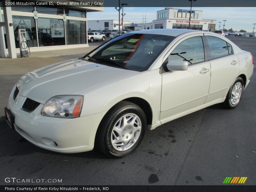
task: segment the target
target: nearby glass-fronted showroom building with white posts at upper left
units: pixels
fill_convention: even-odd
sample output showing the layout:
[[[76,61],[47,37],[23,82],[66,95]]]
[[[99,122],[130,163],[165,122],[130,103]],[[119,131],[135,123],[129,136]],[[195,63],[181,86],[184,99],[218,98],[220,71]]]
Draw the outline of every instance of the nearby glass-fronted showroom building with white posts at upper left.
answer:
[[[87,12],[104,11],[100,6],[3,7],[5,2],[10,0],[0,0],[0,57],[9,53],[10,58],[16,58],[20,52],[19,29],[26,30],[30,52],[88,46]]]

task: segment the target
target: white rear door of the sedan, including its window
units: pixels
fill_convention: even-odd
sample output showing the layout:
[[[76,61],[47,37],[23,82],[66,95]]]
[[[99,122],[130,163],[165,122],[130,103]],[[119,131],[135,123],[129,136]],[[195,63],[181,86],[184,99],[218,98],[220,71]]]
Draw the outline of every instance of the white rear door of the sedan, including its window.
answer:
[[[238,57],[232,46],[216,36],[205,34],[211,64],[211,83],[205,103],[225,98],[231,84],[239,75]]]

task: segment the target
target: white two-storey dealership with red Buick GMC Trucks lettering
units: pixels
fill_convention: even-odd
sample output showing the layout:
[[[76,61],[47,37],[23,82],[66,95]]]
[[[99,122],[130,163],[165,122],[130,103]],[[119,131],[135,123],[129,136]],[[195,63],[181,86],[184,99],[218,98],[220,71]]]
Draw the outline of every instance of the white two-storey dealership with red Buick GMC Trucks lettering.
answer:
[[[155,29],[187,29],[189,26],[190,10],[173,9],[166,7],[157,11],[156,20],[153,20]],[[203,19],[203,11],[191,11],[190,29],[214,31],[217,20]]]

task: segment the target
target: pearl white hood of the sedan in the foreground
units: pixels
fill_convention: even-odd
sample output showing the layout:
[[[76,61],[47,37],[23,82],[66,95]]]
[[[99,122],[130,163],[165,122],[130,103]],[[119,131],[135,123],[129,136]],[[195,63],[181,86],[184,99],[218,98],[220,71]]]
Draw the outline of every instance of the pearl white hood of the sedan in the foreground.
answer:
[[[80,59],[36,69],[17,82],[19,95],[45,103],[56,95],[78,95],[102,84],[139,73]]]

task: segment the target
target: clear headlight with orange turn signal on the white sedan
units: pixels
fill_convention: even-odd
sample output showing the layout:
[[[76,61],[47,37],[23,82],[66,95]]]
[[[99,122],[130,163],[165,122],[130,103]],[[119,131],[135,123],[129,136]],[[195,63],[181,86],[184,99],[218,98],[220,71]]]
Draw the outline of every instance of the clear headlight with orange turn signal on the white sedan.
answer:
[[[49,99],[41,111],[43,116],[75,118],[80,115],[83,96],[58,95]]]

